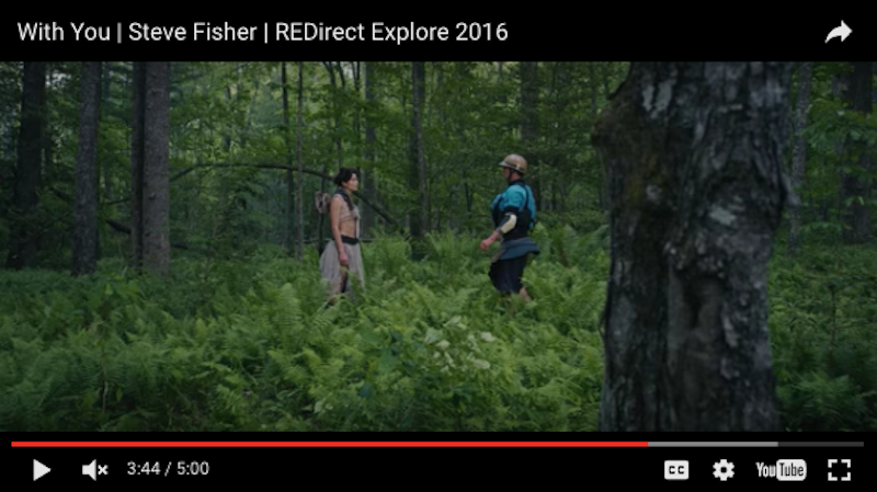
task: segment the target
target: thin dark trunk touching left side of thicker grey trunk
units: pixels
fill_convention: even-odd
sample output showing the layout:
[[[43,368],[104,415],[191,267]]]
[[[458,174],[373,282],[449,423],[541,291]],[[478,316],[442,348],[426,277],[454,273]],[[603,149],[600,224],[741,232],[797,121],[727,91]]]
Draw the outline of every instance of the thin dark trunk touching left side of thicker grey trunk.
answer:
[[[144,263],[144,115],[146,111],[146,61],[134,62],[130,117],[130,245],[136,271]]]

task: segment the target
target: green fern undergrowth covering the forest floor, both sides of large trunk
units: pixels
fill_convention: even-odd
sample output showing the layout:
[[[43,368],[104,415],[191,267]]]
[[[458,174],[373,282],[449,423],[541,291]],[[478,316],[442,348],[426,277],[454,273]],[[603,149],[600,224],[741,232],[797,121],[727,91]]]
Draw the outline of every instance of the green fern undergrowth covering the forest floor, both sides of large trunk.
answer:
[[[537,226],[534,301],[501,301],[477,237],[364,249],[367,286],[327,307],[309,251],[106,261],[0,275],[4,431],[594,431],[605,227]],[[563,260],[566,259],[566,260]],[[875,431],[877,277],[867,249],[774,261],[774,368],[789,431]]]

